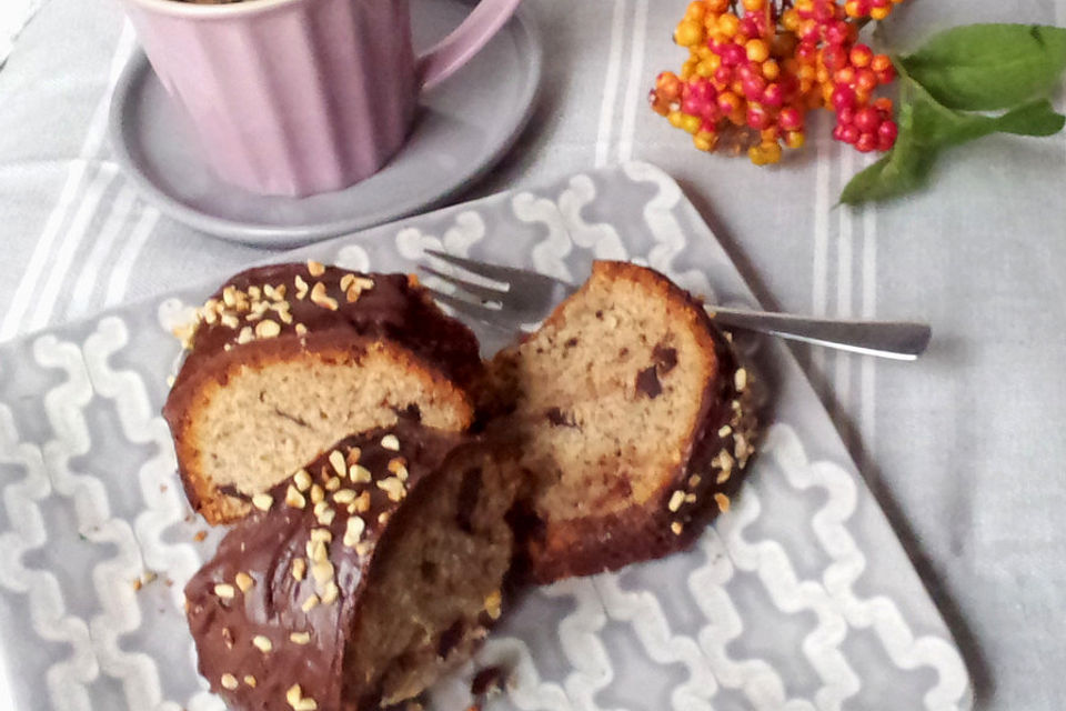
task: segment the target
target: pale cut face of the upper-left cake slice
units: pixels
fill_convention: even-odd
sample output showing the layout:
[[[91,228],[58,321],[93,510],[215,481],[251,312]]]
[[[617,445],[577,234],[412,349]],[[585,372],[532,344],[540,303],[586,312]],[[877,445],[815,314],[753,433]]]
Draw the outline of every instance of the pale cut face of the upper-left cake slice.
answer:
[[[207,494],[201,498],[265,491],[331,443],[391,425],[400,414],[442,430],[469,424],[464,395],[385,349],[358,359],[349,351],[312,351],[234,364],[223,380],[203,389],[188,432],[205,480],[198,482]],[[224,503],[247,507],[237,499]]]

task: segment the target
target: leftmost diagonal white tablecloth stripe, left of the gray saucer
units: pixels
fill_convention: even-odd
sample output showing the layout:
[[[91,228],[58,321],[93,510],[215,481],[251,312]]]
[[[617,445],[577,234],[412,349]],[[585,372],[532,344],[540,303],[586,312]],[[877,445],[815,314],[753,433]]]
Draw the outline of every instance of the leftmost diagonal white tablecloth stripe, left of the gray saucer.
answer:
[[[44,222],[44,229],[41,231],[33,253],[26,263],[26,271],[22,273],[22,279],[19,281],[19,286],[14,291],[11,306],[8,308],[7,313],[4,313],[3,321],[0,322],[0,341],[6,341],[23,330],[23,317],[37,296],[41,278],[54,260],[53,246],[56,240],[59,238],[60,231],[70,212],[78,210],[80,206],[78,196],[86,180],[89,166],[103,146],[111,89],[118,80],[119,71],[133,51],[133,31],[129,24],[125,24],[122,28],[118,47],[111,59],[111,71],[107,91],[104,91],[100,98],[92,113],[92,118],[89,121],[89,129],[86,132],[86,139],[78,152],[78,158],[71,161],[70,168],[68,169],[67,181],[63,183],[63,189],[60,192],[59,202],[56,203],[56,207]],[[59,244],[58,249],[64,249],[64,244],[66,241]],[[71,249],[76,247],[77,246],[73,246]]]

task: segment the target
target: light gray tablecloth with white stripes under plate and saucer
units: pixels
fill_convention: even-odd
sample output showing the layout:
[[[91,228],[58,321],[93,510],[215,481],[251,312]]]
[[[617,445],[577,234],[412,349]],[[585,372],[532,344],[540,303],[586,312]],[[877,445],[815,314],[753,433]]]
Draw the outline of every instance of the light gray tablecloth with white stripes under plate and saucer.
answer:
[[[978,708],[1062,709],[1066,137],[985,139],[919,196],[834,208],[865,159],[824,123],[765,170],[697,153],[646,108],[655,73],[683,59],[670,38],[684,0],[527,1],[546,30],[541,103],[464,197],[648,160],[766,307],[931,322],[914,364],[798,353],[953,628]],[[1066,2],[912,0],[892,30],[914,42],[976,21],[1066,26]],[[0,69],[0,340],[263,258],[161,217],[119,173],[104,124],[133,44],[113,3],[49,0]]]

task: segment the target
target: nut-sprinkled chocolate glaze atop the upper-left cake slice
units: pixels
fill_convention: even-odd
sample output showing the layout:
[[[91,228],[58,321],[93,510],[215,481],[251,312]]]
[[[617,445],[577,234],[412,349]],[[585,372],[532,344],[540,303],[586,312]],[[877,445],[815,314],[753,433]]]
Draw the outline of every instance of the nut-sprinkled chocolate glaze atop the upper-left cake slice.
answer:
[[[208,300],[174,389],[221,351],[271,339],[306,343],[309,336],[320,343],[388,338],[461,384],[480,368],[473,332],[441,311],[413,277],[283,263],[235,274]]]

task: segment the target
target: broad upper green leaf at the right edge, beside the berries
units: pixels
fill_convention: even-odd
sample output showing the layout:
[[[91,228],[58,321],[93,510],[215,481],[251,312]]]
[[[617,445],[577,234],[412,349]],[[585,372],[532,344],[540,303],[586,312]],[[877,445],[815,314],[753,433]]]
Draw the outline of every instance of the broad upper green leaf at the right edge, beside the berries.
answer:
[[[934,36],[897,61],[948,109],[1006,109],[1056,86],[1066,69],[1066,29],[968,24]]]

